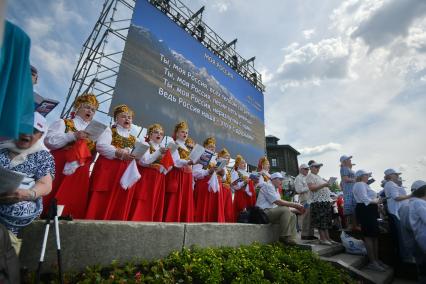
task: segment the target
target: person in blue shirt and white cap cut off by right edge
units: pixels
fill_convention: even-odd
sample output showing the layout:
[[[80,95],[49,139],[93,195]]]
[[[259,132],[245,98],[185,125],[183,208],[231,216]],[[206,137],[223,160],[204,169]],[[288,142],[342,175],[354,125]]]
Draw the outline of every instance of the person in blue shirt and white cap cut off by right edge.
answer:
[[[416,260],[419,283],[426,283],[426,181],[411,185],[411,198],[399,208],[405,247]]]

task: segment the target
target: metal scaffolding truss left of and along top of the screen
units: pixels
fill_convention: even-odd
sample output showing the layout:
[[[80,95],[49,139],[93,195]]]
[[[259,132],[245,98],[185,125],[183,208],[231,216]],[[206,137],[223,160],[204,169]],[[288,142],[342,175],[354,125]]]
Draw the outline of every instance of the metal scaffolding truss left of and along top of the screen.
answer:
[[[261,74],[254,68],[254,57],[242,58],[235,51],[236,39],[227,43],[207,26],[202,21],[204,7],[194,13],[179,0],[149,2],[257,89],[264,91]],[[98,20],[83,44],[61,117],[69,116],[75,98],[84,92],[94,92],[100,102],[98,111],[108,113],[135,3],[136,0],[105,0]]]

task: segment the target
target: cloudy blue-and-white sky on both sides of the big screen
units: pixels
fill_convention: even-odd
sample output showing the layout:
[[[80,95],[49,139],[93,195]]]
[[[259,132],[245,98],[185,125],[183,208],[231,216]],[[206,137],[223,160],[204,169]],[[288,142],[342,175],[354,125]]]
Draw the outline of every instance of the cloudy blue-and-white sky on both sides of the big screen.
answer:
[[[37,89],[63,100],[103,1],[9,0],[7,18],[32,38]],[[237,51],[256,56],[266,85],[266,134],[325,164],[426,179],[426,1],[184,0]],[[263,5],[259,5],[262,3]],[[378,183],[375,184],[378,187]]]

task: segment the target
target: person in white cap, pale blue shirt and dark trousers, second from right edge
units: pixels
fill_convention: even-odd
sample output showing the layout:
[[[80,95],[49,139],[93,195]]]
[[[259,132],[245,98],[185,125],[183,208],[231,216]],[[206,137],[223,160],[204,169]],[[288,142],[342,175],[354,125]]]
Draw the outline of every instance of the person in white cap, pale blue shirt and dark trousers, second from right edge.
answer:
[[[398,185],[400,183],[400,172],[394,169],[387,169],[384,172],[385,180],[387,181],[384,187],[386,199],[387,199],[387,210],[389,216],[389,227],[392,238],[395,242],[396,255],[399,256],[398,261],[408,261],[410,256],[408,250],[405,248],[402,240],[402,230],[399,220],[399,208],[407,202],[407,199],[411,197],[405,191],[405,188]]]

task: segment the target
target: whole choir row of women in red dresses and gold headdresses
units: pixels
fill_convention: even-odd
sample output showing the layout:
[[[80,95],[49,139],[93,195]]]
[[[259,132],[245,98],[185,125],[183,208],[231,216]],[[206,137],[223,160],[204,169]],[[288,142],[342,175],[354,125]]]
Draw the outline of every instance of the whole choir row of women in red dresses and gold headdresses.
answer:
[[[228,165],[231,159],[225,148],[214,154],[208,166],[193,164],[189,157],[195,142],[188,137],[187,123],[175,126],[173,143],[177,147],[170,149],[162,144],[162,126],[153,124],[147,131],[149,148],[136,166],[131,154],[137,142],[130,134],[133,111],[126,105],[115,107],[115,123],[95,143],[85,129],[98,106],[95,95],[83,94],[75,100],[73,118],[60,119],[50,126],[45,144],[55,159],[57,174],[52,192],[43,200],[45,212],[50,200],[56,198],[58,204],[65,205],[63,214],[77,219],[235,222],[241,211],[255,205],[254,183],[240,155],[232,171],[217,167],[217,162],[225,160]],[[216,151],[213,137],[207,138],[203,146]],[[99,156],[90,175],[96,151]],[[164,167],[168,157],[173,164],[171,170]],[[125,187],[123,178],[129,168],[136,171],[139,180]],[[259,160],[258,171],[260,182],[269,182],[266,157]]]

